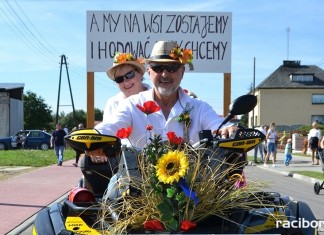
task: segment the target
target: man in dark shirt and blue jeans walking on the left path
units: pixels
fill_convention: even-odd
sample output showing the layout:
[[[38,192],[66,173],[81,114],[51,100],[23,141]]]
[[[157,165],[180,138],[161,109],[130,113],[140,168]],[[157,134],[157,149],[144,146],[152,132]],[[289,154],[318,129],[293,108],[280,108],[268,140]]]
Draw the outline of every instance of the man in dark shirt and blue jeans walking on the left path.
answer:
[[[62,166],[63,153],[64,153],[64,137],[66,133],[62,129],[61,124],[56,124],[56,129],[51,136],[51,148],[54,148],[55,155],[57,157],[57,165]]]

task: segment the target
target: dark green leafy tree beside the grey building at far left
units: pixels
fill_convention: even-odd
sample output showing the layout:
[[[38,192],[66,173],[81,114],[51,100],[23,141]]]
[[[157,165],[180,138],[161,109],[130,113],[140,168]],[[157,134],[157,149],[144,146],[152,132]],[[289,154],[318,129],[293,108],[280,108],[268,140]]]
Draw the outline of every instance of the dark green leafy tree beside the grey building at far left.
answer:
[[[27,91],[24,94],[24,128],[25,129],[47,129],[53,126],[51,107],[36,93]]]

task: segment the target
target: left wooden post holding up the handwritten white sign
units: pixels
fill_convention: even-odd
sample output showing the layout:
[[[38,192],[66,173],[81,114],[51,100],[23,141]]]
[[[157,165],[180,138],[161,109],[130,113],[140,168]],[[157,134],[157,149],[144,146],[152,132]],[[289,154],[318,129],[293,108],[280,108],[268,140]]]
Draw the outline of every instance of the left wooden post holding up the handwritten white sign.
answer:
[[[94,72],[87,72],[87,128],[93,128],[94,122]]]

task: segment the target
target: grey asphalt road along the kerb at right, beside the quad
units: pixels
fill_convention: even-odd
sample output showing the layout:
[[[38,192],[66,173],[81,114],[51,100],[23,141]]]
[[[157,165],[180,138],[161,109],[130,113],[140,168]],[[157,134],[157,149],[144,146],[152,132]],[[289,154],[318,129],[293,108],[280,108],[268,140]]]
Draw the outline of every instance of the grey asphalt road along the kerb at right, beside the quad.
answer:
[[[282,196],[289,195],[296,201],[303,201],[309,205],[317,219],[324,220],[324,190],[316,195],[313,183],[256,166],[247,166],[245,171],[248,180],[250,178],[269,182],[269,188],[266,191],[278,192]]]

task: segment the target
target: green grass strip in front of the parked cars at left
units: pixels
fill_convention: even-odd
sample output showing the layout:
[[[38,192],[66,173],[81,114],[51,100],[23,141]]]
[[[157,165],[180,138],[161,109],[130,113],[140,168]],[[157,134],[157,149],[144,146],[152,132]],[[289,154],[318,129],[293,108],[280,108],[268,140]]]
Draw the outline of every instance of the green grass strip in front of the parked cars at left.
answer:
[[[75,151],[64,150],[64,161],[74,159]],[[42,150],[6,150],[0,151],[0,166],[44,167],[56,163],[53,149]]]

